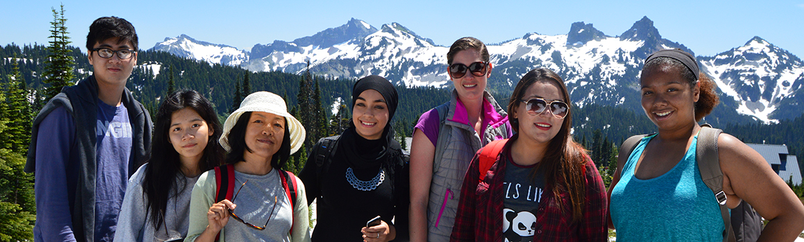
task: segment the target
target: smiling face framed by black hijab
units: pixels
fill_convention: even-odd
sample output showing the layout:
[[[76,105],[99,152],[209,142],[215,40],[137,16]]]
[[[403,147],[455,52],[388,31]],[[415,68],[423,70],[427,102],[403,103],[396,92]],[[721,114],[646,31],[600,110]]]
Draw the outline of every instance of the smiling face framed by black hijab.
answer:
[[[352,123],[355,131],[363,139],[379,139],[388,124],[388,104],[379,91],[369,89],[363,91],[355,101],[352,111]]]

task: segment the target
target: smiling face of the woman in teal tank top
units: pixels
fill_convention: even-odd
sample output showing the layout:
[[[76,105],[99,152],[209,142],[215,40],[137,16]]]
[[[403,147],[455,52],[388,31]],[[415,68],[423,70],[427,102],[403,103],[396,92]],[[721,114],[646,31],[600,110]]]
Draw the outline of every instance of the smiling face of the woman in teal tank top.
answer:
[[[642,70],[642,109],[659,130],[695,123],[698,84],[690,87],[676,67],[658,66]]]

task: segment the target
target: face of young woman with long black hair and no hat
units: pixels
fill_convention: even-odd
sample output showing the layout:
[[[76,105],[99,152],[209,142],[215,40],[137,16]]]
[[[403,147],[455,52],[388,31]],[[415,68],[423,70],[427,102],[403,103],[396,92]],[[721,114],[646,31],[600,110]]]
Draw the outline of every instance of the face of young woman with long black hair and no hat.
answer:
[[[174,111],[170,115],[169,141],[182,161],[198,163],[212,134],[212,128],[190,107]]]

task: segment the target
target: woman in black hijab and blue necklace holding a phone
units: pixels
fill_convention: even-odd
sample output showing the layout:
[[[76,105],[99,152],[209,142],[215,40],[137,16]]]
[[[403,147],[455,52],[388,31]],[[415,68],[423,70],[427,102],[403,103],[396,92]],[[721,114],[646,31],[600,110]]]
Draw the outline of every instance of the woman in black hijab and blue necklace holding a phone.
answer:
[[[387,79],[359,79],[350,127],[310,151],[299,178],[308,203],[318,199],[313,241],[408,240],[408,155],[390,124],[398,101]],[[367,227],[375,216],[379,225]]]

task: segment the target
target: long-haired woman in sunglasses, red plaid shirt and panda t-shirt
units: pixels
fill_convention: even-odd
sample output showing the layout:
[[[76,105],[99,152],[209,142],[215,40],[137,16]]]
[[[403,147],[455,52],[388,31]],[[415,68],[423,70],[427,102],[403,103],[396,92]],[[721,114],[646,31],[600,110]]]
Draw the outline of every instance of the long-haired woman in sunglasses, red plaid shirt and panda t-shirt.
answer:
[[[519,80],[508,103],[517,134],[472,159],[450,241],[607,239],[603,179],[572,140],[568,103],[564,81],[548,69]],[[496,145],[498,153],[487,151]]]

